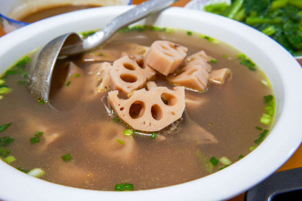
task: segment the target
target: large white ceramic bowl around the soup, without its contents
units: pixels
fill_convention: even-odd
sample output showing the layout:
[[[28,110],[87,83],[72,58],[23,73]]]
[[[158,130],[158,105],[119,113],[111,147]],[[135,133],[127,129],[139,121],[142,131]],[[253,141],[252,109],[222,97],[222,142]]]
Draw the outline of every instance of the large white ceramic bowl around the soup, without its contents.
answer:
[[[0,72],[61,34],[97,29],[131,6],[92,8],[41,20],[0,38]],[[170,187],[132,192],[95,191],[53,184],[31,177],[0,161],[0,199],[25,200],[223,200],[230,199],[277,170],[302,140],[300,115],[302,69],[268,36],[234,20],[185,8],[169,8],[138,22],[181,28],[219,39],[248,55],[271,81],[276,120],[258,148],[228,168]]]

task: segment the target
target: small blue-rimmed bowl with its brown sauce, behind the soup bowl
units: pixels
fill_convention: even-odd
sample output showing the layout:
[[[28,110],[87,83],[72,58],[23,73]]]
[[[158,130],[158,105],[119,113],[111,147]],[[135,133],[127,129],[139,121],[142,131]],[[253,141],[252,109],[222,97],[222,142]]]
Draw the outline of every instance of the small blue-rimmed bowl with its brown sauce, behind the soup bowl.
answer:
[[[130,5],[132,0],[0,0],[0,25],[9,33],[55,15],[111,5]]]

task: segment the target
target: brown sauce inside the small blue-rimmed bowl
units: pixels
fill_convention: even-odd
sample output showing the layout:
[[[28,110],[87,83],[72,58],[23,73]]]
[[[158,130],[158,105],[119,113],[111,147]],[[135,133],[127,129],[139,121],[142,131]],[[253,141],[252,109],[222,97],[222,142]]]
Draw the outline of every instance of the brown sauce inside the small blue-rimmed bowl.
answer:
[[[27,22],[27,23],[33,23],[38,20],[43,20],[47,17],[52,17],[55,15],[72,12],[72,11],[78,11],[86,8],[95,8],[99,7],[100,5],[52,5],[48,6],[47,8],[38,8],[31,12],[26,13],[24,16],[20,17],[18,20]]]

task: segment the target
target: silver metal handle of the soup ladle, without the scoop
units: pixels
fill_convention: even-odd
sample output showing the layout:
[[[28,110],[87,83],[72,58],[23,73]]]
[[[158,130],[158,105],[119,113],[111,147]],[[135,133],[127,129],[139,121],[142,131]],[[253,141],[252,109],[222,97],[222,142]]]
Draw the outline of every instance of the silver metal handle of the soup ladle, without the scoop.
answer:
[[[177,2],[178,0],[149,0],[143,2],[129,11],[119,15],[105,25],[100,31],[88,36],[83,40],[82,44],[75,44],[74,46],[66,46],[61,50],[62,54],[77,54],[85,52],[86,50],[100,46],[108,39],[110,39],[114,33],[121,28],[124,28],[134,22],[137,22],[149,15],[152,15],[169,5]]]

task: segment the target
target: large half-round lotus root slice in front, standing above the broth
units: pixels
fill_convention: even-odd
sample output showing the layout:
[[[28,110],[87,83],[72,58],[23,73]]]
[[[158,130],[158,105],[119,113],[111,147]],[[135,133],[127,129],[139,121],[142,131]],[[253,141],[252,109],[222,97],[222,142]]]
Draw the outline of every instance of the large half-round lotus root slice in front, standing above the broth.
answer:
[[[136,130],[158,131],[181,118],[185,109],[185,88],[151,87],[137,90],[129,99],[119,99],[118,91],[108,93],[114,111]]]

